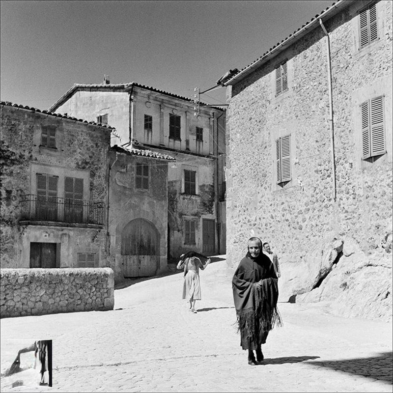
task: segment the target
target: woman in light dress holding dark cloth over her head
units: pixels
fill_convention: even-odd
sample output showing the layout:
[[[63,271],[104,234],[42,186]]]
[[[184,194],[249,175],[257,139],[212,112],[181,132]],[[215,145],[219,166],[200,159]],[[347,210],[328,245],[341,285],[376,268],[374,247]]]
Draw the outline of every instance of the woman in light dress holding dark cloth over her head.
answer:
[[[184,269],[183,299],[190,302],[190,311],[197,313],[195,301],[201,299],[199,269],[203,270],[210,263],[210,258],[189,251],[180,256],[177,269]]]

